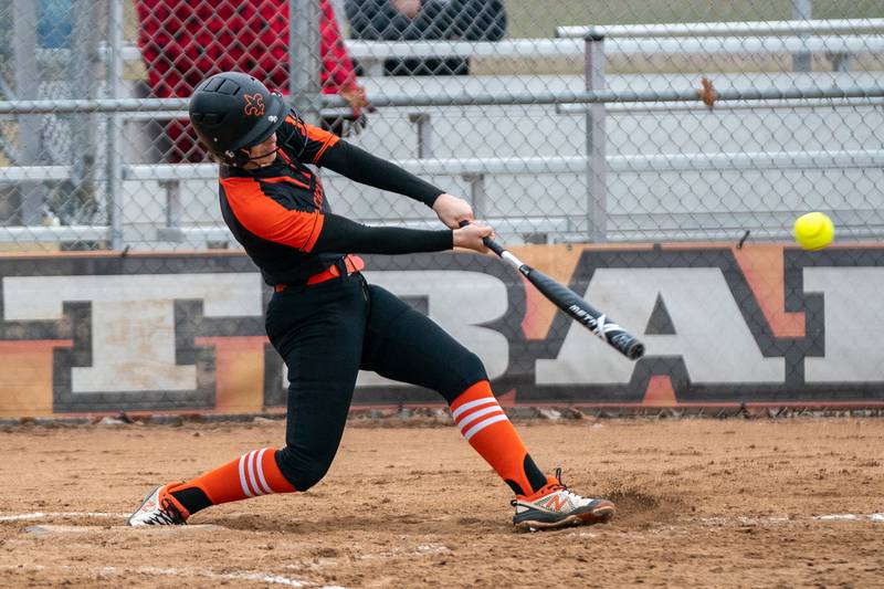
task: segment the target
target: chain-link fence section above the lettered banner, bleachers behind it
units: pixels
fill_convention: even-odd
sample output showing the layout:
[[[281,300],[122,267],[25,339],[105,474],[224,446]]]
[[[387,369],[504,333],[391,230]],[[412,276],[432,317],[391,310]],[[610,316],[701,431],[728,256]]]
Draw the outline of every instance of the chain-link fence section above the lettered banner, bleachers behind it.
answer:
[[[2,243],[235,246],[182,118],[223,70],[467,197],[511,242],[782,240],[817,209],[877,238],[884,3],[646,4],[6,0]],[[341,214],[432,222],[327,185]]]

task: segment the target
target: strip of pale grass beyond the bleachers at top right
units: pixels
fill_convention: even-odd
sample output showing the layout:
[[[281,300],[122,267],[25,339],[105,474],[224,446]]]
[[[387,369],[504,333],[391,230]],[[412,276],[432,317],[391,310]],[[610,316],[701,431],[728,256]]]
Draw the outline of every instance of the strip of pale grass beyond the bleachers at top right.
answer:
[[[881,0],[812,0],[813,19],[884,17]],[[505,0],[511,38],[552,36],[566,24],[789,20],[791,0]]]

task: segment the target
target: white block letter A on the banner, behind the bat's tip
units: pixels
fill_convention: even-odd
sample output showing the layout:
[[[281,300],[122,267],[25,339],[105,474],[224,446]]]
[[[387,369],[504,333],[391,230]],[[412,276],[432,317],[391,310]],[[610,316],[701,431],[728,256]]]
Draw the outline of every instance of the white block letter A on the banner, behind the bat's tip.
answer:
[[[657,295],[675,335],[643,335]],[[639,336],[648,356],[681,357],[693,382],[783,382],[785,360],[761,355],[719,269],[600,269],[586,299]],[[558,357],[537,360],[537,383],[625,383],[634,367],[572,323]]]

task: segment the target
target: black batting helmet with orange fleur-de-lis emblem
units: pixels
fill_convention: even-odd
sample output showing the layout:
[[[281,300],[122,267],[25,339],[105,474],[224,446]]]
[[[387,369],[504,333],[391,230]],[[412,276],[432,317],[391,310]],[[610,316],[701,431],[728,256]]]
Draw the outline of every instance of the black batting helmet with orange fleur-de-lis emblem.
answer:
[[[223,72],[200,82],[190,97],[190,123],[218,159],[242,166],[244,147],[263,143],[285,120],[285,101],[259,80]]]

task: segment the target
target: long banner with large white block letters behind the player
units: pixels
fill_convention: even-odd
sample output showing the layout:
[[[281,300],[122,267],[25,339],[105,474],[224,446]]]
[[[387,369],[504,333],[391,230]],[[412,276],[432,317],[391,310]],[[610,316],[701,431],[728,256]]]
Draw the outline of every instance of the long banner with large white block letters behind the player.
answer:
[[[366,274],[480,355],[514,403],[884,404],[884,249],[519,249],[639,335],[639,362],[490,256],[368,256]],[[286,372],[239,254],[0,257],[0,416],[254,412]],[[360,374],[355,402],[439,403]]]

